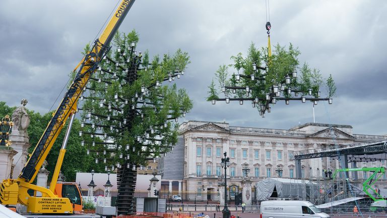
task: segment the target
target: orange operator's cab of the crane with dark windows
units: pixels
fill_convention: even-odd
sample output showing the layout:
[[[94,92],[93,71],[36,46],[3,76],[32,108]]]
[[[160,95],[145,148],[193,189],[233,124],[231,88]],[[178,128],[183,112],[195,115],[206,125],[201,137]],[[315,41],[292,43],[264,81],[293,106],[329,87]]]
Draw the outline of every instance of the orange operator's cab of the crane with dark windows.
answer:
[[[77,183],[58,182],[54,194],[58,197],[69,198],[74,212],[82,212],[82,192]]]

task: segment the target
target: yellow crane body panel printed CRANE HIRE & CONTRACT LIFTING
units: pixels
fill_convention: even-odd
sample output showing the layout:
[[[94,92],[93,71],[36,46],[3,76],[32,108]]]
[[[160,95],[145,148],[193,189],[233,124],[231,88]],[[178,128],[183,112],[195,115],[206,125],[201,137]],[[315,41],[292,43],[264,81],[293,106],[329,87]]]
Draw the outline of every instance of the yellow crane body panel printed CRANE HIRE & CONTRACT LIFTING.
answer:
[[[69,198],[29,197],[27,212],[73,213],[73,205]]]

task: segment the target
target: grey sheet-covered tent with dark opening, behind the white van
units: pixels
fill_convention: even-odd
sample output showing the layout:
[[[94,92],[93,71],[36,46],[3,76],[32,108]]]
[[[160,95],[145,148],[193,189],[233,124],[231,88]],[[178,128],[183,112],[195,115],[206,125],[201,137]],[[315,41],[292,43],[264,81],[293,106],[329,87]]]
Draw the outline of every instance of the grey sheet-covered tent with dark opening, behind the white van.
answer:
[[[283,178],[266,178],[257,182],[255,188],[258,201],[264,201],[268,198],[301,200],[303,198],[317,197],[319,190],[318,185],[309,180]]]

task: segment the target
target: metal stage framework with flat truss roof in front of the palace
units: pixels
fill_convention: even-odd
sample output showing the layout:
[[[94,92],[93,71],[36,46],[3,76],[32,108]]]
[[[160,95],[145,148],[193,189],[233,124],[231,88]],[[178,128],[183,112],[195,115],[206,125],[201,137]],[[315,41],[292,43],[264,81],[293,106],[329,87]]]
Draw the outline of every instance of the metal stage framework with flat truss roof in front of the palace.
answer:
[[[321,172],[317,169],[315,177],[312,178],[309,171],[309,177],[307,179],[302,178],[301,159],[339,156],[339,159],[344,158],[342,159],[344,161],[343,167],[348,168],[348,162],[350,161],[362,162],[358,155],[372,157],[372,155],[381,153],[387,153],[387,140],[340,145],[331,148],[313,148],[294,152],[293,157],[296,161],[296,166],[299,168],[296,169],[296,175],[302,180],[302,186],[295,185],[292,188],[301,188],[302,190],[297,190],[297,193],[300,193],[299,198],[292,200],[307,200],[315,205],[319,205],[346,198],[365,196],[362,189],[362,181],[357,178],[351,181],[348,172],[341,172],[340,177],[332,179],[321,176]],[[366,161],[372,160],[371,158],[362,158]]]

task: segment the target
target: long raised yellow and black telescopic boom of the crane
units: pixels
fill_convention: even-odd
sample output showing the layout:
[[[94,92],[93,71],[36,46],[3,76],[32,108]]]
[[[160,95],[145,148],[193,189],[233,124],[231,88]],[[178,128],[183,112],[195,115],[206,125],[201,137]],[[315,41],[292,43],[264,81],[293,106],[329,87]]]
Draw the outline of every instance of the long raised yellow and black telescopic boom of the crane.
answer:
[[[43,132],[43,135],[19,176],[25,182],[34,181],[56,137],[59,135],[64,124],[66,124],[70,115],[76,112],[78,98],[84,87],[86,87],[91,74],[97,70],[98,64],[106,55],[110,41],[134,2],[134,0],[122,0],[100,38],[94,42],[91,51],[83,58],[78,74],[64,95],[59,107],[56,109],[51,121],[48,123],[47,128]]]

